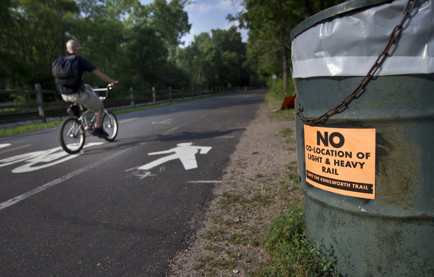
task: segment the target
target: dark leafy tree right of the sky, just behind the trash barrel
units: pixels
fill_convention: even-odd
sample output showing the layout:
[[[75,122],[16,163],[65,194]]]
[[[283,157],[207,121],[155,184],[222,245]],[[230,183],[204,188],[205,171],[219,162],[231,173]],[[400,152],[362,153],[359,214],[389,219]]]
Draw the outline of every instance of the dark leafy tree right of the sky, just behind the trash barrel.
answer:
[[[227,18],[239,21],[240,28],[249,29],[247,61],[250,67],[256,68],[264,77],[281,71],[283,90],[286,91],[291,45],[289,33],[303,19],[336,2],[342,1],[243,0],[246,10]],[[276,61],[277,58],[280,62]]]

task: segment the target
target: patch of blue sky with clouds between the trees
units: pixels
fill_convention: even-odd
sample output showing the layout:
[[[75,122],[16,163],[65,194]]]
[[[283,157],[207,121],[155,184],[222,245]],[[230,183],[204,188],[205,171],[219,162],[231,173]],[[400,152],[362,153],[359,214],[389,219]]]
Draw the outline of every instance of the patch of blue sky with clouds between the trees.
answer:
[[[153,0],[140,0],[144,5],[153,2]],[[194,35],[202,32],[211,34],[211,29],[229,29],[236,23],[229,22],[226,19],[227,14],[235,14],[243,8],[240,6],[240,0],[195,0],[195,2],[184,8],[191,24],[190,34],[184,35],[181,39],[185,42],[184,46],[188,46],[194,40]],[[247,30],[239,29],[238,32],[241,33],[243,42],[247,42]]]

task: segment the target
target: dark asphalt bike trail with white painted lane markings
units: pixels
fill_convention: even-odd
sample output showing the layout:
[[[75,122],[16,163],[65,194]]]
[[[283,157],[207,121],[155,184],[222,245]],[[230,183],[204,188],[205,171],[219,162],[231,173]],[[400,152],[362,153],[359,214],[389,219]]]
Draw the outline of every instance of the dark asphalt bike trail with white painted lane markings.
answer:
[[[58,129],[0,138],[0,276],[165,276],[264,92],[119,115],[80,155]]]

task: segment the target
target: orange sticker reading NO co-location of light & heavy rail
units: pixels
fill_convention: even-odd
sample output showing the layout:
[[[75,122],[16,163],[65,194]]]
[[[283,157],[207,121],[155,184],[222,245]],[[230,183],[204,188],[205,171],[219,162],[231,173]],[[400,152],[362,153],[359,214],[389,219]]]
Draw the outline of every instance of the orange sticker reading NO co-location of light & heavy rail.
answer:
[[[375,129],[304,126],[306,181],[322,190],[375,199]]]

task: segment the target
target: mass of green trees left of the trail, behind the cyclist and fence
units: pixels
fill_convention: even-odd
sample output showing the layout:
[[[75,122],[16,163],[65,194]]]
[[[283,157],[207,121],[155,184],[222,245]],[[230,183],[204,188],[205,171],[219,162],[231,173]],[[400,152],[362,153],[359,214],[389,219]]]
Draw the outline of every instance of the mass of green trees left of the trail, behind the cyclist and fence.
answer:
[[[186,0],[4,0],[0,11],[0,89],[55,89],[51,63],[75,39],[83,56],[138,90],[249,85],[246,45],[236,29],[212,30],[179,48],[191,24]],[[85,72],[85,82],[102,87]],[[30,99],[29,99],[30,100]],[[25,100],[24,100],[25,101]]]

